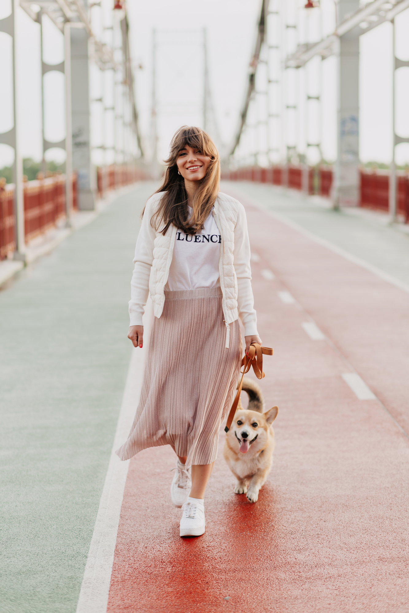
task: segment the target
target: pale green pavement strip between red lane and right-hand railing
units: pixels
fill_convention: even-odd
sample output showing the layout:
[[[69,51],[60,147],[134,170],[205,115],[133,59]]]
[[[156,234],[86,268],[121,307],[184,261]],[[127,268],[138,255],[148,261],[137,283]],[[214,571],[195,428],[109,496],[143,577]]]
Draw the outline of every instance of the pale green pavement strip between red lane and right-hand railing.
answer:
[[[239,199],[242,194],[409,285],[409,234],[389,226],[386,216],[361,209],[334,211],[321,199],[265,183],[224,181],[221,191],[234,191]]]

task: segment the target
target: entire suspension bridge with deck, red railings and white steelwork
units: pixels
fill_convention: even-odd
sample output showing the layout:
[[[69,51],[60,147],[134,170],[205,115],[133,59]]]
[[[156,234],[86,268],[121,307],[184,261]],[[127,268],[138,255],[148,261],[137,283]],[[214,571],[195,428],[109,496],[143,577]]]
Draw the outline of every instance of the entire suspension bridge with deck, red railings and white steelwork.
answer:
[[[229,139],[210,26],[183,30],[202,58],[189,112],[218,143],[221,191],[246,210],[259,333],[274,348],[262,390],[279,406],[274,464],[255,504],[233,492],[220,432],[197,539],[178,536],[170,447],[128,462],[114,452],[149,343],[134,350],[126,338],[140,212],[158,186],[164,118],[186,112],[162,83],[161,53],[179,34],[155,17],[148,116],[134,74],[145,59],[132,56],[140,9],[12,0],[0,13],[0,45],[12,41],[0,61],[13,67],[12,120],[0,135],[0,154],[13,150],[0,183],[1,611],[407,611],[409,132],[399,113],[409,2],[332,4],[259,2]],[[62,63],[39,58],[36,178],[24,177],[18,125],[22,12],[44,40],[52,27],[64,43]],[[365,164],[359,63],[377,28],[394,35],[391,159]],[[66,99],[58,141],[47,132],[51,72],[63,75]],[[97,99],[91,74],[107,84]],[[149,330],[149,305],[144,318]]]

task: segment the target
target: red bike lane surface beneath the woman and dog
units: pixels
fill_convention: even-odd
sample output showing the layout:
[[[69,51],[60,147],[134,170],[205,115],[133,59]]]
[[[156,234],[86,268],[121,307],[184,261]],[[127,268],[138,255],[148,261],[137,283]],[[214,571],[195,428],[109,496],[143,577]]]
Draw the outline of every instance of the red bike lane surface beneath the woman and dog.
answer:
[[[173,452],[134,457],[107,611],[403,613],[409,294],[244,204],[259,333],[274,348],[261,382],[280,408],[272,472],[257,503],[235,495],[221,431],[206,532],[182,539]],[[355,371],[380,400],[357,398],[342,379]]]

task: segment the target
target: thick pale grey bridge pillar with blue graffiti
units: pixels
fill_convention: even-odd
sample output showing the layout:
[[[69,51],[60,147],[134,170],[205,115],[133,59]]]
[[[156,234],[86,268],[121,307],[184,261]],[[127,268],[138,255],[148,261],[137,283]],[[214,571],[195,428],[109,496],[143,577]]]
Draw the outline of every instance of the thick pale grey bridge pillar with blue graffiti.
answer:
[[[359,9],[359,0],[338,0],[337,23]],[[337,162],[334,208],[359,204],[359,26],[340,37],[337,50]]]

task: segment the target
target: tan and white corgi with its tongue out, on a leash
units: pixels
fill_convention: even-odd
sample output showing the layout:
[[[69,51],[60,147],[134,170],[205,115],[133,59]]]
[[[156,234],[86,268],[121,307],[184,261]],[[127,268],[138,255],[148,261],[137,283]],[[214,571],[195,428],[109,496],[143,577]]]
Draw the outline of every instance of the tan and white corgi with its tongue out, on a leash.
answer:
[[[263,412],[264,398],[252,379],[244,378],[242,389],[248,394],[248,406],[244,409],[239,400],[226,435],[223,456],[237,479],[234,492],[246,494],[250,502],[256,502],[273,465],[275,441],[272,423],[277,417],[278,406]]]

